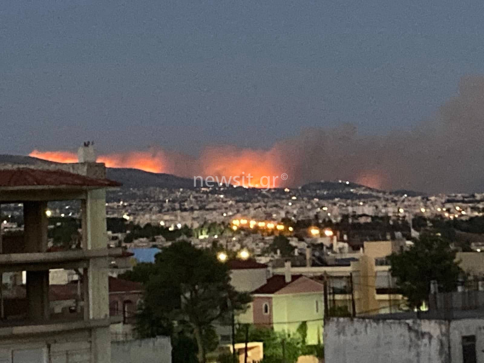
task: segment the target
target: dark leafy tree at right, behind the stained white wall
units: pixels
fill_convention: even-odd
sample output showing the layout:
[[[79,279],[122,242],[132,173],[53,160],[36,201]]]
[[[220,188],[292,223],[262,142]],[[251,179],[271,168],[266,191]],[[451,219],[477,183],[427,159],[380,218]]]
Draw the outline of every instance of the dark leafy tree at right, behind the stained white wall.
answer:
[[[428,301],[432,280],[437,280],[439,291],[454,291],[462,272],[455,254],[440,236],[424,233],[407,251],[389,257],[392,276],[410,308],[419,309]]]

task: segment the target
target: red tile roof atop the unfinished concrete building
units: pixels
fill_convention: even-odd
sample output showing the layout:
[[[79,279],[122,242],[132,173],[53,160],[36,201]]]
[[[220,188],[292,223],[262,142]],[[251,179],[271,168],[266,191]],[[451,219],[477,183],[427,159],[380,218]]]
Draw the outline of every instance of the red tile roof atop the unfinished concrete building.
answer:
[[[121,186],[117,181],[94,179],[64,170],[45,170],[21,167],[0,169],[0,187],[26,186]]]

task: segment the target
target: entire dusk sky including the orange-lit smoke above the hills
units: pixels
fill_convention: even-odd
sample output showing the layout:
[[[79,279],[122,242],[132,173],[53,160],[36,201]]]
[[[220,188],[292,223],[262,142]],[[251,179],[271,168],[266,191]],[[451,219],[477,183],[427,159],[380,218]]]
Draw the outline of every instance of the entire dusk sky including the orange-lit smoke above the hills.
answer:
[[[1,4],[0,152],[481,191],[482,5],[382,5]]]

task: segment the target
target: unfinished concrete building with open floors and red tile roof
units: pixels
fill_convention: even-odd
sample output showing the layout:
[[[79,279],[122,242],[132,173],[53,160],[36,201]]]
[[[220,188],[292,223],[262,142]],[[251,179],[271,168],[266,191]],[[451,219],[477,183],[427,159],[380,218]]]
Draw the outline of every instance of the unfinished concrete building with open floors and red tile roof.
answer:
[[[23,230],[2,239],[0,233],[0,362],[111,362],[104,164],[95,162],[92,146],[79,149],[79,163],[1,165],[1,204],[23,208]],[[82,232],[76,246],[48,246],[47,202],[76,200]],[[54,252],[51,252],[54,251]],[[79,272],[82,301],[70,314],[49,305],[49,270]],[[24,274],[25,299],[8,291],[6,276]],[[15,285],[15,284],[14,284]],[[15,287],[15,286],[13,286]],[[12,296],[9,296],[12,295]],[[12,297],[9,299],[9,297]]]

